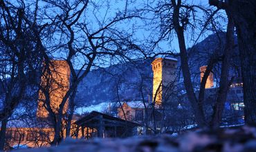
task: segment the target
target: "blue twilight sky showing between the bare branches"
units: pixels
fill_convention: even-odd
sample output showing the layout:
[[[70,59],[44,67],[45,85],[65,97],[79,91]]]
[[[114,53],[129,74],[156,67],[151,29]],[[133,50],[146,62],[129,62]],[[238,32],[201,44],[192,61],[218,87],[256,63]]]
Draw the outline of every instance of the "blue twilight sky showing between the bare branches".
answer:
[[[15,0],[12,0],[12,1],[15,1]],[[35,8],[35,0],[26,0],[25,2],[30,8],[32,9]],[[157,1],[128,0],[128,3],[129,4],[127,5],[127,8],[128,8],[127,12],[129,12],[129,10],[136,10],[136,9],[139,10],[141,8],[145,8],[147,4],[150,4],[150,6],[154,7],[156,6]],[[206,8],[210,8],[210,6],[208,5],[208,0],[186,0],[186,1],[183,0],[183,3],[190,4],[190,5],[200,5]],[[57,15],[62,14],[61,10],[58,10],[57,8],[51,8],[50,6],[46,5],[46,3],[42,0],[39,0],[39,7],[44,8],[42,10],[39,10],[39,13],[38,13],[39,16],[40,14],[45,13],[43,12],[43,10],[46,10],[46,14],[48,14],[48,17],[56,17]],[[80,5],[78,8],[80,7],[82,7],[82,5]],[[82,14],[82,17],[78,22],[86,23],[86,25],[88,25],[89,27],[89,31],[93,33],[96,30],[98,30],[101,25],[107,25],[107,23],[109,23],[109,19],[111,20],[111,18],[115,17],[118,11],[123,12],[125,10],[125,7],[126,7],[125,0],[106,0],[106,1],[90,0],[88,7],[84,11],[84,13]],[[213,8],[213,10],[216,10],[216,8]],[[73,12],[69,12],[69,13],[72,14]],[[225,13],[220,12],[220,14],[223,16],[223,18],[219,17],[216,21],[214,21],[214,24],[217,25],[217,30],[226,30]],[[128,21],[122,21],[121,23],[114,25],[113,28],[121,29],[127,33],[133,32],[134,34],[132,36],[132,39],[136,40],[136,43],[138,43],[138,45],[145,47],[146,50],[147,49],[149,50],[152,47],[149,45],[148,41],[156,41],[156,39],[158,38],[158,34],[160,33],[159,28],[157,27],[159,20],[152,19],[152,17],[154,17],[154,14],[152,13],[147,13],[143,15],[144,15],[143,17],[145,17],[146,19],[142,20],[142,19],[136,18]],[[196,10],[196,19],[206,21],[206,18],[207,17],[202,11]],[[51,22],[51,21],[42,20],[42,23],[44,22]],[[203,22],[201,24],[198,23],[195,25],[194,30],[188,29],[185,32],[185,40],[186,40],[187,48],[192,47],[192,45],[202,41],[209,34],[213,33],[209,31],[203,32],[203,34],[198,39],[199,33],[201,32],[201,27],[203,26],[202,24]],[[209,26],[208,28],[211,28],[211,26]],[[83,36],[82,34],[76,34],[75,36],[75,39],[77,40],[76,45],[83,45],[82,43],[84,43],[84,41],[82,41],[81,39],[82,36]],[[196,39],[198,39],[198,41],[196,41]],[[81,41],[79,42],[79,40]],[[45,41],[44,45],[48,46],[49,50],[51,49],[53,50],[52,48],[53,45],[55,45],[56,43],[66,43],[66,41],[67,39],[65,39],[65,36],[55,32],[55,34],[53,34],[51,41]],[[174,32],[172,32],[172,36],[170,37],[170,39],[159,42],[158,47],[155,47],[155,49],[152,50],[152,52],[167,52],[167,51],[179,52],[179,44],[176,38],[176,34]],[[66,54],[67,52],[61,49],[57,52],[54,52],[52,56],[53,58],[62,58],[62,56],[66,56]],[[84,58],[82,57],[80,58],[79,56],[77,56],[77,58],[78,60],[74,60],[74,62],[77,61],[77,66],[82,65],[81,62],[84,60]],[[102,65],[106,64],[107,62],[111,64],[110,60],[111,59],[109,58],[106,58],[106,59],[101,58],[101,60],[99,60],[99,63],[101,61]]]

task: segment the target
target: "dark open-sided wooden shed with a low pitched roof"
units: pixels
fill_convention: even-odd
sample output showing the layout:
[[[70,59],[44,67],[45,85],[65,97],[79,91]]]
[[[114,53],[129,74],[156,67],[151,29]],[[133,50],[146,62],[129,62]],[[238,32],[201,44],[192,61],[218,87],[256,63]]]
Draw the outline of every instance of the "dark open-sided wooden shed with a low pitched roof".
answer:
[[[140,124],[92,111],[74,123],[77,127],[76,136],[82,130],[82,138],[124,138],[136,134]],[[85,131],[85,132],[84,132]]]

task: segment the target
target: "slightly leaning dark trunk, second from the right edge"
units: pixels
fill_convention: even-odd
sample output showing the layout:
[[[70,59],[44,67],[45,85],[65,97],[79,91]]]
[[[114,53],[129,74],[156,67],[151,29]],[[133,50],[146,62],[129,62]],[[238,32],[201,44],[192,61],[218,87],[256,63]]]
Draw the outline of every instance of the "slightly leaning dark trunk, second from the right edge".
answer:
[[[223,53],[223,61],[221,65],[221,80],[219,85],[219,91],[217,96],[217,101],[214,105],[214,111],[212,115],[211,127],[218,128],[221,123],[222,113],[224,109],[224,104],[227,99],[228,88],[230,86],[228,80],[228,69],[230,67],[230,57],[232,55],[232,50],[234,47],[234,22],[229,17],[228,18],[228,30],[226,33],[226,48]]]

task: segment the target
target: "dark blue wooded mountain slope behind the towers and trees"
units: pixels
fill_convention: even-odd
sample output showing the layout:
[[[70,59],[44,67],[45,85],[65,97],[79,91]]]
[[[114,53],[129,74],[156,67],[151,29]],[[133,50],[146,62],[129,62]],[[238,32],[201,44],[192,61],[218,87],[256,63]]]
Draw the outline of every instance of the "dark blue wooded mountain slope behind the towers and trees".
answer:
[[[214,52],[221,56],[225,43],[226,33],[218,32],[188,49],[190,72],[195,85],[200,83],[199,67],[207,65],[208,59]],[[237,56],[237,48],[234,52],[233,55]],[[180,60],[177,59],[178,65],[180,65]],[[233,61],[232,65],[239,63],[238,58]],[[118,98],[119,100],[139,100],[142,98],[140,94],[142,79],[143,96],[145,100],[149,100],[152,96],[150,94],[152,94],[153,79],[151,62],[152,60],[135,61],[89,72],[88,76],[78,85],[76,102],[82,105],[97,105],[100,102],[116,101]],[[213,69],[214,77],[219,76],[219,68],[220,64]],[[233,71],[232,74],[235,72]],[[183,80],[182,74],[180,80]],[[183,85],[183,83],[179,84]]]

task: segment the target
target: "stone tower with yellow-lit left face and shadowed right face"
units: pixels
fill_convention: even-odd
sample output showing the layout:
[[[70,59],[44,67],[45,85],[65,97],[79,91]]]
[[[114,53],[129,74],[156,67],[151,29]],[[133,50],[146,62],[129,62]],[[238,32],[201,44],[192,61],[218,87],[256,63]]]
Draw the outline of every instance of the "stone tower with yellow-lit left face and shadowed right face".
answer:
[[[164,102],[165,95],[168,94],[168,89],[170,90],[170,86],[174,85],[176,67],[176,58],[156,58],[152,62],[154,72],[152,100],[154,102],[154,99],[156,99],[156,105],[161,105]]]

